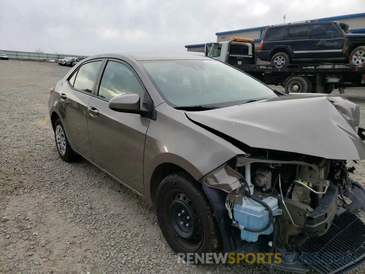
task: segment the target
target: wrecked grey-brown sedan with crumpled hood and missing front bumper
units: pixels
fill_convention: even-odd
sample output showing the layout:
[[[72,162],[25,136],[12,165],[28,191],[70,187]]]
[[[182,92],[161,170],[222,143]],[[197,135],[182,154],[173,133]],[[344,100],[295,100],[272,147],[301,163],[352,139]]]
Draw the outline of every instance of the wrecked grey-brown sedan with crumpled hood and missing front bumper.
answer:
[[[103,54],[57,82],[49,112],[60,157],[141,195],[177,253],[351,253],[309,260],[320,273],[364,260],[365,190],[348,162],[365,159],[365,137],[346,99],[286,95],[203,56]]]

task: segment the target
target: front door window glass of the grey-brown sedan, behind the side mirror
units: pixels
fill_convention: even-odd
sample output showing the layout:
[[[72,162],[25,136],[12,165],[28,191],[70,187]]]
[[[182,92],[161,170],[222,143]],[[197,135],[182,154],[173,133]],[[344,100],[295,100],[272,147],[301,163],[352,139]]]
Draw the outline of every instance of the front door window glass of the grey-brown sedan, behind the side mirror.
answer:
[[[109,101],[115,96],[124,94],[138,94],[142,103],[145,90],[126,65],[108,61],[101,78],[98,96]]]

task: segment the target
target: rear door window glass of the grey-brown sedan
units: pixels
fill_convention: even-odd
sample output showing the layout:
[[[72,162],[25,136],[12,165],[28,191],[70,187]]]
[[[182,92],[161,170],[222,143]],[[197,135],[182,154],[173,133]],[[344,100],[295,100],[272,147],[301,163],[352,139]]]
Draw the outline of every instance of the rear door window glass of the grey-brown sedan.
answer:
[[[81,65],[78,69],[73,87],[80,91],[92,93],[101,62],[100,60]]]

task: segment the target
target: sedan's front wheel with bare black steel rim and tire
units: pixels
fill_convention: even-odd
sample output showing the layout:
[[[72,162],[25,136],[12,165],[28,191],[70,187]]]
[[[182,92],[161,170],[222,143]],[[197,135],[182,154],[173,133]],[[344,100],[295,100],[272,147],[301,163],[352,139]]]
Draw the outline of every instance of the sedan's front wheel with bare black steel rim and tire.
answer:
[[[220,251],[220,232],[211,204],[197,182],[184,172],[162,180],[155,208],[162,235],[174,252]]]

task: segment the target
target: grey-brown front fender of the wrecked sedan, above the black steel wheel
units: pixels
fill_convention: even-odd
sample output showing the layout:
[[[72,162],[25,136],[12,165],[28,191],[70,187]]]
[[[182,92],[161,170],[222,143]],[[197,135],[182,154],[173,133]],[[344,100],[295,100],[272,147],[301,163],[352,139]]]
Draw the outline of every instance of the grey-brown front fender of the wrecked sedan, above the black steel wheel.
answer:
[[[151,178],[161,164],[171,163],[199,181],[228,160],[244,152],[190,121],[184,111],[162,103],[156,107],[146,134],[143,162],[144,198],[152,204]]]

